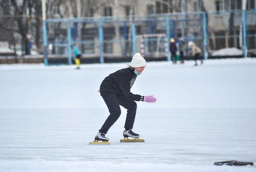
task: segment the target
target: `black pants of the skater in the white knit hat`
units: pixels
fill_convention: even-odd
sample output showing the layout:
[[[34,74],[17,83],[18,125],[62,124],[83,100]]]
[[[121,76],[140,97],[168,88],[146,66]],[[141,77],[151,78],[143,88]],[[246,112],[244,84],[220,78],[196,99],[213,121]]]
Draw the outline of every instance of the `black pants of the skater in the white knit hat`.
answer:
[[[110,115],[106,119],[105,123],[99,130],[102,133],[107,133],[109,128],[115,123],[115,121],[121,115],[120,105],[127,109],[126,121],[124,128],[126,130],[132,129],[134,125],[137,104],[134,100],[127,99],[124,96],[119,96],[117,94],[103,95],[106,105],[108,106],[108,111]]]

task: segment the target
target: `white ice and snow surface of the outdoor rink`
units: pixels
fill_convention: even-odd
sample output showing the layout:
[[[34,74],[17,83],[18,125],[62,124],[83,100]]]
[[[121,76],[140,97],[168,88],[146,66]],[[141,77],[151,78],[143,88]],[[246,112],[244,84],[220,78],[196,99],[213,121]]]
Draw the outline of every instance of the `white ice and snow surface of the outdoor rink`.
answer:
[[[134,131],[145,143],[120,143],[126,117],[94,140],[108,109],[102,79],[125,64],[0,65],[0,172],[256,172],[256,59],[203,66],[148,62],[133,93]]]

